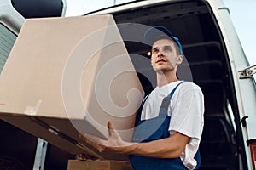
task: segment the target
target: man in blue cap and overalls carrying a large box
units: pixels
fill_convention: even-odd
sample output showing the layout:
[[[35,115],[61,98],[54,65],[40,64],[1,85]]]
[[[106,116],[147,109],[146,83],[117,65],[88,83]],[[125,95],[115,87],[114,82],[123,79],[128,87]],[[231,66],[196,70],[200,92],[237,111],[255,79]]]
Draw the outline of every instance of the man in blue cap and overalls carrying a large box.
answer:
[[[144,35],[151,48],[151,64],[157,87],[137,111],[133,142],[123,141],[108,122],[109,139],[85,134],[80,138],[99,151],[131,155],[135,170],[197,169],[199,144],[204,125],[204,98],[193,82],[177,79],[183,48],[177,37],[163,26],[154,26]]]

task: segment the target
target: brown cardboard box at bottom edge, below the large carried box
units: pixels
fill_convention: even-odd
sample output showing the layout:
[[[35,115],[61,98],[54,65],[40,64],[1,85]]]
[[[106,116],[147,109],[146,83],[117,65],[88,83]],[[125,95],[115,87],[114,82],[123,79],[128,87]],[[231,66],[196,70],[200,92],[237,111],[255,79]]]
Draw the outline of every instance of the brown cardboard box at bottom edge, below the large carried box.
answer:
[[[132,170],[132,167],[128,161],[68,160],[67,170]]]

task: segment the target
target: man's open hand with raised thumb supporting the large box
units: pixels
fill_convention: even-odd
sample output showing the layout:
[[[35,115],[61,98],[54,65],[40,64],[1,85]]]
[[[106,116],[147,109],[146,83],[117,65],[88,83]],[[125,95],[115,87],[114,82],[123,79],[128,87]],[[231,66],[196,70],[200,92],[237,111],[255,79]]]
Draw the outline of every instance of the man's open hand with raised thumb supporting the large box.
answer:
[[[119,133],[117,133],[116,129],[113,127],[112,122],[108,122],[108,130],[109,130],[109,138],[108,140],[98,138],[92,134],[79,134],[79,139],[84,140],[86,143],[90,144],[96,150],[99,150],[100,152],[116,152],[116,153],[122,153],[122,148],[128,145],[131,145],[131,143],[127,143],[121,139],[119,136]]]

